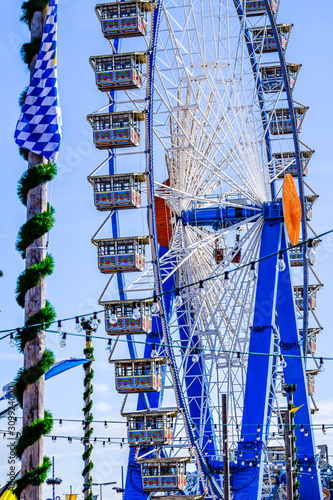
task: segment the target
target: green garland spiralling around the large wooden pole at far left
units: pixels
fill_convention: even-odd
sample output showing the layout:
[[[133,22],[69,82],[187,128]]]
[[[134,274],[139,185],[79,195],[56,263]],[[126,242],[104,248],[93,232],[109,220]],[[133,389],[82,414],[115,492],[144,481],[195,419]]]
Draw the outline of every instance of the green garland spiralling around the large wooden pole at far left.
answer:
[[[35,12],[41,12],[46,9],[48,0],[27,0],[22,4],[23,16],[21,21],[25,22],[31,30],[31,23]],[[41,45],[41,37],[34,37],[31,42],[25,43],[21,49],[23,61],[31,69],[34,67],[33,59],[38,55]],[[25,89],[19,100],[21,108],[24,105],[27,89]],[[29,151],[20,148],[20,154],[28,161]],[[57,173],[55,165],[50,162],[33,165],[22,175],[18,184],[18,196],[21,202],[27,206],[28,193],[30,190],[51,181]],[[16,249],[20,252],[23,259],[26,258],[27,248],[39,238],[42,238],[50,231],[54,224],[54,210],[47,206],[45,211],[37,213],[21,227],[17,241]],[[16,300],[24,308],[26,294],[32,288],[41,284],[42,280],[52,274],[54,261],[51,255],[46,255],[42,261],[38,261],[26,268],[18,277],[16,286]],[[26,344],[38,336],[39,332],[48,328],[55,320],[55,311],[51,304],[46,300],[45,306],[39,311],[30,315],[25,323],[25,328],[18,329],[16,333],[16,342],[21,352],[24,352]],[[40,326],[32,326],[39,324]],[[23,406],[23,394],[27,387],[35,384],[46,371],[54,364],[54,355],[48,350],[44,350],[39,361],[29,368],[21,368],[17,374],[14,384],[14,393],[20,406]],[[21,459],[25,450],[37,443],[44,434],[48,434],[53,426],[53,419],[50,412],[44,412],[44,418],[35,418],[29,425],[23,427],[22,433],[15,445],[16,456]],[[42,463],[33,470],[26,471],[20,479],[16,481],[14,493],[20,498],[22,491],[27,486],[40,486],[46,480],[47,473],[51,467],[51,460],[44,457]]]

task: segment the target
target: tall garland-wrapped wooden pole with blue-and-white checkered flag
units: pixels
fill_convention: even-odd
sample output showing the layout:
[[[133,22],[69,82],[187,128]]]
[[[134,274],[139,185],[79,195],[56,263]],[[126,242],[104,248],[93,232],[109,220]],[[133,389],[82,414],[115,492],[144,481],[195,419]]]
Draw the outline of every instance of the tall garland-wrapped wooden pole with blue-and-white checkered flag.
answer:
[[[47,203],[47,181],[56,175],[54,162],[60,147],[61,115],[56,57],[58,0],[47,3],[31,0],[22,5],[22,19],[31,31],[30,47],[38,39],[41,43],[39,53],[26,61],[31,80],[15,130],[15,142],[28,158],[28,170],[18,188],[27,207],[27,222],[16,242],[26,260],[25,271],[17,281],[16,300],[24,307],[26,327],[17,334],[24,353],[24,369],[19,371],[15,383],[15,394],[23,408],[23,429],[16,442],[22,477],[16,483],[15,493],[26,500],[43,498],[42,484],[51,466],[50,459],[44,457],[43,435],[50,432],[53,424],[51,414],[44,411],[44,374],[54,363],[53,353],[45,350],[44,330],[55,319],[54,309],[45,298],[45,278],[52,274],[54,266],[52,256],[47,254],[47,233],[54,223],[53,209]],[[40,326],[32,326],[36,324]]]

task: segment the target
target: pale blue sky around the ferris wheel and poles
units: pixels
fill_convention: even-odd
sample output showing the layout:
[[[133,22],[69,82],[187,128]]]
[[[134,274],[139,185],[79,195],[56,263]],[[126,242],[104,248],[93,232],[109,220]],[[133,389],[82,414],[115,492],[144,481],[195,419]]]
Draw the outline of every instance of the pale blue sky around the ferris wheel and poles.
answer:
[[[0,61],[2,78],[0,96],[2,120],[0,122],[2,153],[2,196],[0,198],[0,268],[4,278],[0,281],[0,325],[1,329],[15,328],[23,323],[23,312],[14,296],[17,276],[24,262],[15,251],[15,239],[19,227],[25,220],[25,208],[16,195],[17,182],[26,169],[26,163],[18,155],[13,140],[14,128],[19,115],[18,97],[28,84],[29,74],[20,59],[20,47],[29,40],[28,29],[19,22],[21,2],[9,2],[3,8],[0,19]],[[90,238],[101,224],[103,217],[93,205],[92,190],[86,177],[105,154],[98,152],[91,142],[91,129],[86,115],[106,104],[106,100],[94,83],[94,75],[88,63],[89,56],[108,53],[108,44],[101,35],[94,13],[95,2],[86,0],[59,0],[58,18],[58,74],[60,104],[63,114],[63,142],[61,145],[59,174],[49,188],[50,202],[56,210],[56,224],[50,233],[50,251],[55,259],[55,272],[47,280],[47,297],[60,318],[83,314],[95,309],[98,297],[105,286],[105,276],[96,266],[96,249]],[[287,59],[303,64],[294,93],[295,100],[310,106],[306,116],[301,140],[315,149],[311,160],[307,182],[320,195],[313,211],[312,226],[317,233],[333,228],[330,214],[333,208],[331,165],[332,145],[332,58],[331,19],[333,6],[323,0],[282,1],[280,22],[294,23]],[[333,352],[331,337],[331,297],[333,296],[333,236],[324,239],[317,251],[316,272],[324,283],[319,293],[317,314],[324,327],[318,339],[318,355]],[[70,328],[74,329],[74,323]],[[103,328],[100,334],[105,336]],[[47,346],[57,359],[79,356],[83,339],[71,338],[66,349],[60,349],[56,335],[47,336]],[[94,416],[98,420],[119,420],[122,398],[114,391],[113,369],[107,363],[105,342],[96,341]],[[125,354],[124,349],[118,351]],[[0,385],[9,382],[22,364],[22,357],[8,347],[7,340],[0,343]],[[330,380],[333,362],[326,363],[326,371],[316,380],[316,400],[321,412],[316,421],[332,422],[333,402]],[[67,375],[50,380],[46,385],[46,408],[55,418],[82,418],[83,369],[78,367]],[[0,406],[0,411],[3,408]],[[19,413],[18,413],[19,416]],[[0,422],[0,429],[6,422]],[[66,423],[54,434],[80,436],[80,423]],[[329,431],[319,435],[317,443],[330,442],[333,454],[333,439]],[[125,436],[125,426],[95,425],[96,436]],[[82,445],[65,440],[52,443],[45,440],[45,453],[56,457],[56,475],[63,478],[63,486],[57,494],[81,492]],[[120,467],[126,463],[126,450],[119,446],[102,447],[97,444],[93,454],[95,482],[120,480]],[[0,483],[7,474],[7,450],[0,437]],[[117,498],[111,487],[106,487],[105,498]],[[44,498],[51,496],[51,488],[45,486]],[[97,493],[97,491],[96,491]]]

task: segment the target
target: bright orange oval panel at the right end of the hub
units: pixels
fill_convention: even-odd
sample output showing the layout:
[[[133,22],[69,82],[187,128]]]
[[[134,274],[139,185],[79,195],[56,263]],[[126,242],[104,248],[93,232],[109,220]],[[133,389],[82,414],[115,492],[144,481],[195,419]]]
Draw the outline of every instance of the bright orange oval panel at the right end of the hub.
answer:
[[[283,183],[283,212],[289,239],[292,245],[299,240],[302,220],[302,207],[296,185],[291,174],[287,174]]]

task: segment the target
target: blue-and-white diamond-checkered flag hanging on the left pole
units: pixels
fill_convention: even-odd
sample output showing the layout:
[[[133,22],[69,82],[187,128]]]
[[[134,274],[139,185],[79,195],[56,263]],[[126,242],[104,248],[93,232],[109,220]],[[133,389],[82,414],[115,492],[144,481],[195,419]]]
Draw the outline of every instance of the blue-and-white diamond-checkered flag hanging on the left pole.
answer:
[[[42,43],[20,118],[15,142],[55,162],[61,140],[57,83],[57,9],[50,0]]]

